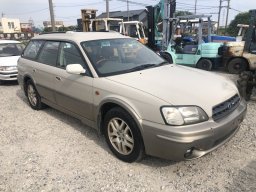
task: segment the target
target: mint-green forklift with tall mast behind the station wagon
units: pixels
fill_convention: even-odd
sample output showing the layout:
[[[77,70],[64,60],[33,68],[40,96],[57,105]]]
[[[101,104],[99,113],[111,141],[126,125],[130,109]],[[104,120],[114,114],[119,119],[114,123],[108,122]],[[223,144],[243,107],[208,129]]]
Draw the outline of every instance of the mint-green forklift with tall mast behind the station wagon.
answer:
[[[221,58],[221,56],[218,55],[218,49],[222,46],[222,43],[211,42],[211,16],[188,15],[174,17],[175,4],[176,1],[162,0],[157,6],[148,7],[148,20],[151,19],[154,21],[149,22],[149,45],[154,49],[156,45],[161,44],[162,55],[169,62],[211,70],[212,67],[217,65]],[[206,34],[208,34],[209,43],[203,41],[204,18],[207,18],[208,27]],[[178,38],[175,37],[177,26],[180,26],[181,21],[184,20],[187,23],[191,20],[196,20],[198,23],[195,41],[183,41],[182,34]],[[160,25],[159,22],[162,24]],[[162,31],[162,33],[160,33],[160,31]],[[162,36],[162,41],[159,41],[159,39],[161,39],[159,36]]]

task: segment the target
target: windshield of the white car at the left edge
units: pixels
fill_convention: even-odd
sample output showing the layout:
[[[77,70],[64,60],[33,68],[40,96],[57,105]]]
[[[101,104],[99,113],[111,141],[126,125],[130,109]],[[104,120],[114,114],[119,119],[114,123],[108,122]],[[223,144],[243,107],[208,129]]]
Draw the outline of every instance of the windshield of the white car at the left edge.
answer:
[[[0,57],[18,56],[24,49],[21,43],[4,43],[0,44]]]

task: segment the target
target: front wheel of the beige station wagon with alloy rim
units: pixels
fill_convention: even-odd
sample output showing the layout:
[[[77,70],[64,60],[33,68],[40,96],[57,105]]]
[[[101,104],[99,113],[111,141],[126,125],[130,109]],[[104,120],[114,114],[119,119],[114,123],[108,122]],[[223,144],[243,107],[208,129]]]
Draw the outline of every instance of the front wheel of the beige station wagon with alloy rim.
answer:
[[[128,112],[120,107],[109,110],[104,118],[103,129],[107,144],[118,159],[128,163],[142,159],[142,137]]]

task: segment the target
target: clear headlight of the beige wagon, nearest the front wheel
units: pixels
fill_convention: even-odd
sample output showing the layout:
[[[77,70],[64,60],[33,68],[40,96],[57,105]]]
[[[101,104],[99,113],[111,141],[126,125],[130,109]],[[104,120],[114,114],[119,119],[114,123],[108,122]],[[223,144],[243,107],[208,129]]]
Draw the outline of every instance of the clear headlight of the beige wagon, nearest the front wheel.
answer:
[[[161,112],[169,125],[189,125],[208,120],[207,114],[197,106],[162,107]]]

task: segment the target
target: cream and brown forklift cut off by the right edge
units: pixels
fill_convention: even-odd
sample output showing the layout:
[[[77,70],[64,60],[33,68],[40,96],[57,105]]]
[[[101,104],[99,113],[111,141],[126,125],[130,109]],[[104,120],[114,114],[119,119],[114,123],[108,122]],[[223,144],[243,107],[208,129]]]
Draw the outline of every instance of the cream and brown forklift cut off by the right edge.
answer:
[[[250,24],[247,32],[241,35],[243,41],[226,42],[223,47],[223,63],[228,72],[239,74],[256,69],[256,10],[250,10]]]

